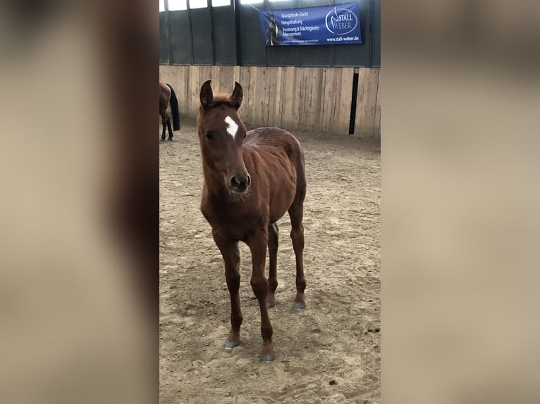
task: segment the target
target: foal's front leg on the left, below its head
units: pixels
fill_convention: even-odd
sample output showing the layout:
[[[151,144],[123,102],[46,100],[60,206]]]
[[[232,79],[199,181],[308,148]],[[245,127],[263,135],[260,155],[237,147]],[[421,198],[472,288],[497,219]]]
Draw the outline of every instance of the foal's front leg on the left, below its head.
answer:
[[[219,234],[213,233],[214,241],[223,255],[225,262],[225,279],[231,296],[231,332],[225,348],[231,349],[240,345],[240,325],[242,324],[242,311],[240,310],[240,249],[238,241],[231,241]]]

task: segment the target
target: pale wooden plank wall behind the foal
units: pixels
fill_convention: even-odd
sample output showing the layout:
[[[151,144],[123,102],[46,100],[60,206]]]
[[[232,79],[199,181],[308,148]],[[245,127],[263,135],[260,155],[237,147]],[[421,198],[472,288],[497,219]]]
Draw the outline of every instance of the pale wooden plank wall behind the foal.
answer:
[[[355,135],[380,137],[379,69],[359,68]],[[160,65],[159,78],[171,84],[180,115],[197,117],[202,83],[231,94],[242,84],[244,122],[286,130],[348,134],[354,68]]]

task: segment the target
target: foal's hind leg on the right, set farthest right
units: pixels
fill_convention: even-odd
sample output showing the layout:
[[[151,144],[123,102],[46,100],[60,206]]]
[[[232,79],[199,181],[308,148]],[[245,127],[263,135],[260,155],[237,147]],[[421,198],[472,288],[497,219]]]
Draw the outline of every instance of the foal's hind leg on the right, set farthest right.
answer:
[[[302,218],[304,216],[304,196],[297,194],[293,205],[289,208],[290,238],[293,239],[293,248],[296,255],[296,297],[294,308],[301,310],[305,308],[304,290],[306,289],[306,279],[304,277],[304,226]]]

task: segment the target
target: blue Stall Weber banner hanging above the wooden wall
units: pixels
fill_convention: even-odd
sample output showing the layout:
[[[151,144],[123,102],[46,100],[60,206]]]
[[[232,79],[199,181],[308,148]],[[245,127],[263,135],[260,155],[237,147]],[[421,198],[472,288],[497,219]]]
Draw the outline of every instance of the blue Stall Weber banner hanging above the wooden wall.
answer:
[[[266,46],[361,44],[358,3],[262,10]]]

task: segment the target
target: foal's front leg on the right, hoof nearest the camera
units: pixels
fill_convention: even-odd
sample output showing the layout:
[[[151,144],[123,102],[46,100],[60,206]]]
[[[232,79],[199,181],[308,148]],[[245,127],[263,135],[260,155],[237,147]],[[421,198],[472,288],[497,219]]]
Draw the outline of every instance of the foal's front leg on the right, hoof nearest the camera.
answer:
[[[268,298],[268,281],[264,275],[264,267],[266,264],[266,247],[268,245],[268,228],[260,229],[255,232],[250,239],[246,241],[250,247],[251,257],[253,262],[253,270],[251,274],[251,287],[261,310],[261,334],[262,334],[262,351],[261,360],[269,362],[274,360],[274,345],[272,344],[272,324],[268,315],[268,307],[266,298]]]

